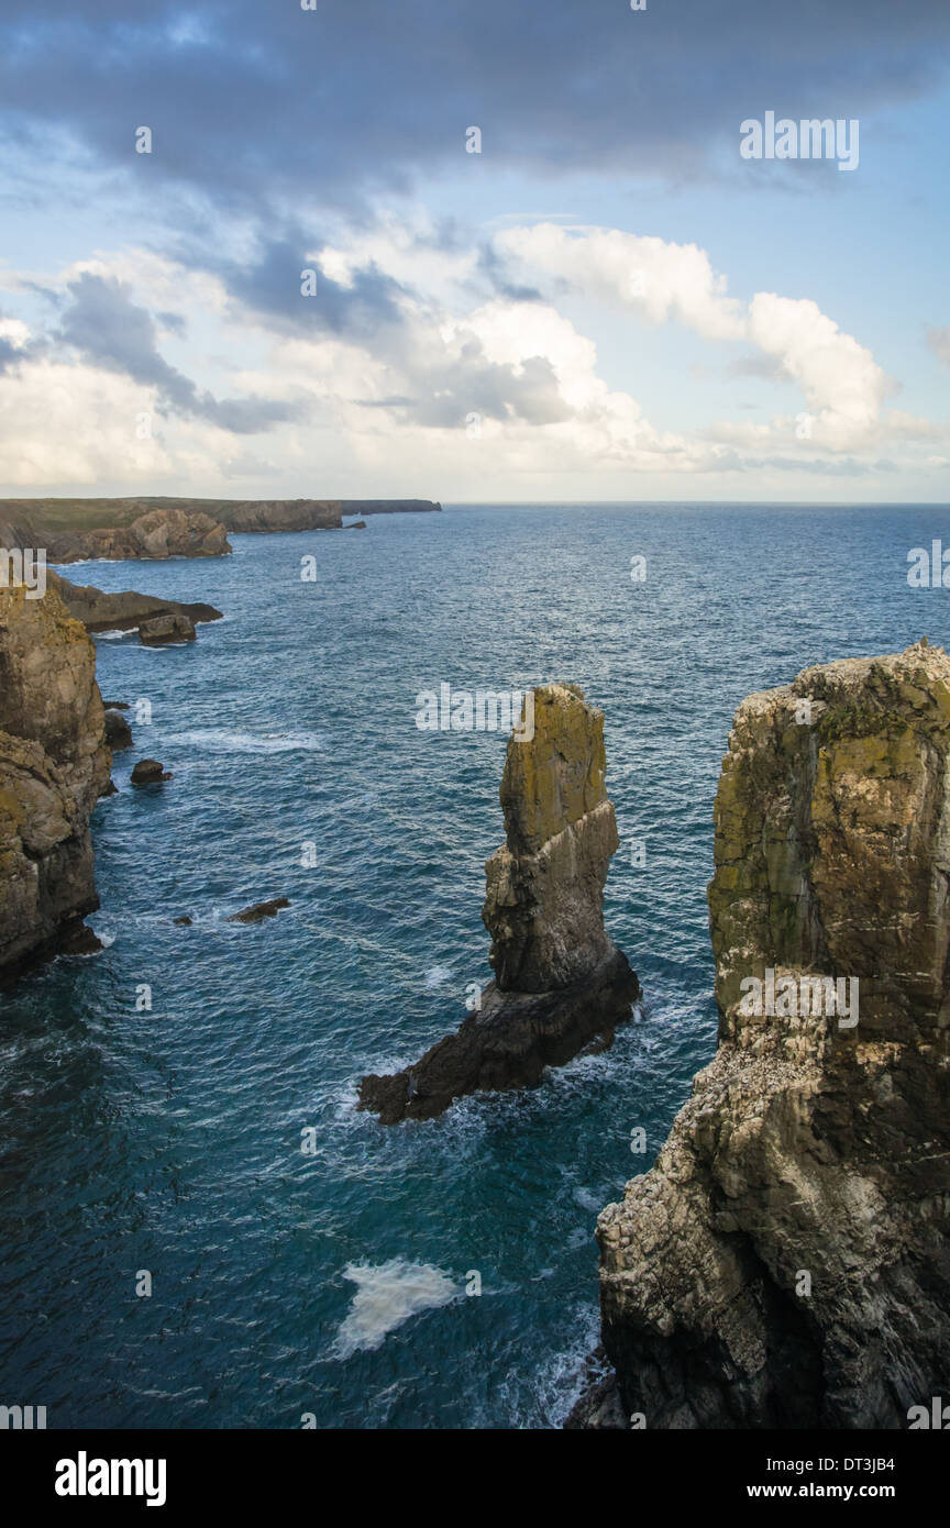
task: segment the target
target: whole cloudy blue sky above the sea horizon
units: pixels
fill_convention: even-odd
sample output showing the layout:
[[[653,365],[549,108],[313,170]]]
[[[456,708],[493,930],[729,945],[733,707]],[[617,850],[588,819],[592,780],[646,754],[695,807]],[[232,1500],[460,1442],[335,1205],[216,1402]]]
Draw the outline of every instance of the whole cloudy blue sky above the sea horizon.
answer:
[[[945,0],[0,26],[3,497],[950,497]]]

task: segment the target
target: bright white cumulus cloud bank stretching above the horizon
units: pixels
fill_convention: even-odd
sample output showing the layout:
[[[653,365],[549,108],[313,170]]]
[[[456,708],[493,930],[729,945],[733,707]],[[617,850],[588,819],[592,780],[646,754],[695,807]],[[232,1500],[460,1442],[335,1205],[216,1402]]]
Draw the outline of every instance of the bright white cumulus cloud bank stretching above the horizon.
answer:
[[[324,244],[313,264],[330,319],[313,324],[295,324],[292,310],[283,316],[283,287],[269,306],[252,281],[243,301],[223,275],[145,251],[67,267],[47,284],[49,332],[0,319],[0,342],[17,351],[15,365],[0,370],[0,478],[18,489],[209,494],[226,481],[249,495],[266,481],[269,494],[287,497],[345,495],[359,481],[367,494],[428,489],[441,498],[472,497],[473,484],[475,497],[492,487],[510,497],[513,484],[527,497],[564,497],[597,480],[603,497],[625,497],[634,477],[672,487],[704,477],[765,484],[796,472],[829,481],[877,475],[890,471],[884,445],[898,466],[929,461],[936,471],[944,460],[924,451],[947,428],[881,411],[880,367],[816,304],[774,293],[736,301],[696,246],[629,244],[632,235],[616,231],[562,240],[562,231],[551,238],[542,229],[535,240],[515,229],[495,246],[489,274],[477,246],[463,251],[423,231],[423,296],[403,280],[417,234],[374,225]],[[623,257],[631,248],[643,254],[643,243],[651,281],[631,292]],[[506,280],[515,255],[532,295],[518,296],[521,272]],[[379,327],[347,307],[347,295],[362,301],[364,277],[380,293]],[[21,277],[12,284],[29,287]],[[751,347],[800,388],[809,413],[663,428],[637,397],[608,385],[594,341],[533,295],[565,286],[635,321],[649,321],[648,304],[654,322],[689,322],[710,347]],[[162,353],[170,344],[191,374]],[[221,370],[228,397],[211,387]],[[154,439],[137,439],[142,414],[156,416]],[[266,449],[235,446],[250,429]]]

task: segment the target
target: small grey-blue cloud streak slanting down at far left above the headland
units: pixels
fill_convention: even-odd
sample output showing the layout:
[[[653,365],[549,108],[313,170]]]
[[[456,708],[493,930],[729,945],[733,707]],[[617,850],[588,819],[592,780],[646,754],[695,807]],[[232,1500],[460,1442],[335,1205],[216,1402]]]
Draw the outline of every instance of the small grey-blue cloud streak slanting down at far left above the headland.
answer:
[[[159,353],[151,313],[134,303],[130,287],[115,277],[84,272],[69,284],[69,293],[70,301],[63,312],[57,338],[95,365],[157,388],[162,405],[171,413],[206,419],[238,435],[270,429],[296,417],[296,410],[284,402],[261,397],[215,399],[211,393],[200,391]]]

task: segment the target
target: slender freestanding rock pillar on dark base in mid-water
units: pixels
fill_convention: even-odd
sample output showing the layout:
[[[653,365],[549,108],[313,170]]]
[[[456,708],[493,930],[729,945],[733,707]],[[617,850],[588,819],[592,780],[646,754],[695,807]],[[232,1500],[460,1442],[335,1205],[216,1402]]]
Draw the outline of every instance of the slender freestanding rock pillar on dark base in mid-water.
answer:
[[[605,787],[603,712],[574,685],[533,692],[533,736],[513,732],[501,782],[506,843],[486,865],[495,981],[461,1028],[394,1076],[364,1077],[385,1125],[431,1118],[477,1089],[536,1083],[585,1047],[609,1045],[640,984],[603,927],[619,847]]]

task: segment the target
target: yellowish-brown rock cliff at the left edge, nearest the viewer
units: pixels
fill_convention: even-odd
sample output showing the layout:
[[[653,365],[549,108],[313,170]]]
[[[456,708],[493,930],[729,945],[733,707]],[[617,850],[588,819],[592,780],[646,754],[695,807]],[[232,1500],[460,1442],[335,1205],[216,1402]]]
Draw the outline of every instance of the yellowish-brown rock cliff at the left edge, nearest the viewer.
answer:
[[[0,588],[0,981],[89,947],[89,816],[111,761],[95,665],[55,590],[31,601]]]

